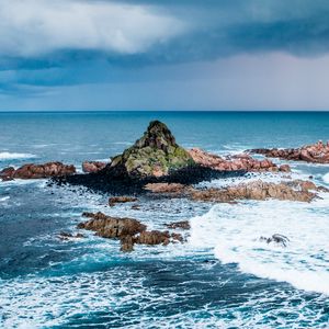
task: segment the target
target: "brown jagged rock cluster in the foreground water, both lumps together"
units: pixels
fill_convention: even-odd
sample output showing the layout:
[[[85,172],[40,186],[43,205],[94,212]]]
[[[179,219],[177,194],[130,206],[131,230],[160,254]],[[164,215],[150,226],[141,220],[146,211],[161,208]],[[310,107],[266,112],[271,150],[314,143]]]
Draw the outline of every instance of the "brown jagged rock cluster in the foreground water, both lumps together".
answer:
[[[93,230],[103,238],[120,239],[122,251],[134,250],[134,245],[163,245],[170,242],[183,241],[180,234],[160,230],[146,230],[147,227],[133,218],[117,218],[106,216],[103,213],[83,213],[84,217],[91,218],[88,222],[80,223],[78,228]]]

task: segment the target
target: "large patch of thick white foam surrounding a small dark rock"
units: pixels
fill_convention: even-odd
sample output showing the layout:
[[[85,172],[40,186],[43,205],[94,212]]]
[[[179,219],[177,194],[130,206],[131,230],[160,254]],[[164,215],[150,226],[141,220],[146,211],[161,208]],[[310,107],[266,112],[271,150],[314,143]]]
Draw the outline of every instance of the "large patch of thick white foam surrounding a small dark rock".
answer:
[[[329,295],[329,197],[311,204],[265,201],[219,204],[191,219],[190,243],[211,248],[243,272]],[[286,248],[261,242],[282,234]]]

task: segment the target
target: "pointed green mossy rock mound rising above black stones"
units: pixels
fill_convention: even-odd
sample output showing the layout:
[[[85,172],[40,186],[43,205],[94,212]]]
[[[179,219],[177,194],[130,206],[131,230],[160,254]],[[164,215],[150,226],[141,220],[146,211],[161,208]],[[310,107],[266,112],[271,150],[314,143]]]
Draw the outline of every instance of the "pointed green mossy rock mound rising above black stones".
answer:
[[[162,177],[171,170],[188,167],[194,161],[159,122],[150,122],[144,136],[122,155],[112,159],[109,168],[125,171],[133,177]]]

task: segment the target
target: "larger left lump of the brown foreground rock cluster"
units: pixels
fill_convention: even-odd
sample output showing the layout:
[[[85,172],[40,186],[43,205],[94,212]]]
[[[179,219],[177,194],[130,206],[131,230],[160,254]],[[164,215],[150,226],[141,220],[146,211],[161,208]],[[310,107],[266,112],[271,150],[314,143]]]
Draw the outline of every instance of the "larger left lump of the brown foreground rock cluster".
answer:
[[[103,213],[83,213],[82,215],[91,219],[80,223],[78,228],[93,230],[98,236],[103,238],[122,238],[125,236],[134,236],[146,230],[145,225],[133,218],[111,217]]]

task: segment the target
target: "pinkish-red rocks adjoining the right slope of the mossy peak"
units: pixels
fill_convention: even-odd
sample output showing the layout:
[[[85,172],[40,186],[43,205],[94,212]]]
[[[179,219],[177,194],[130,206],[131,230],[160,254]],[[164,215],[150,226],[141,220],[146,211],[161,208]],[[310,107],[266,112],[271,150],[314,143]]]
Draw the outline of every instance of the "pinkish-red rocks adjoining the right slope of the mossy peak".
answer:
[[[189,150],[189,154],[195,163],[219,171],[290,171],[290,167],[287,164],[277,167],[269,159],[257,160],[247,154],[222,158],[219,156],[208,154],[200,148],[192,148]]]

